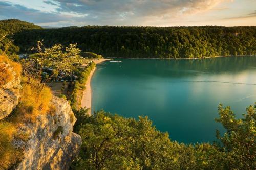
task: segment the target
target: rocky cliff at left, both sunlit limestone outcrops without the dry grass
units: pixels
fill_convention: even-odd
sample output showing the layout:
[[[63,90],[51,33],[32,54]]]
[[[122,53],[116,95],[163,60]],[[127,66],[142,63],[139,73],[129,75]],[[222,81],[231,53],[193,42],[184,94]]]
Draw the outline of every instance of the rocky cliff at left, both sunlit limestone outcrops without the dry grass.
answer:
[[[8,61],[0,58],[0,120],[12,114],[22,88],[19,74]],[[22,125],[15,122],[17,134],[27,136],[13,141],[14,147],[21,149],[24,155],[16,169],[68,169],[78,154],[81,137],[72,132],[76,118],[69,102],[53,96],[49,106],[51,111],[39,114],[33,122]]]

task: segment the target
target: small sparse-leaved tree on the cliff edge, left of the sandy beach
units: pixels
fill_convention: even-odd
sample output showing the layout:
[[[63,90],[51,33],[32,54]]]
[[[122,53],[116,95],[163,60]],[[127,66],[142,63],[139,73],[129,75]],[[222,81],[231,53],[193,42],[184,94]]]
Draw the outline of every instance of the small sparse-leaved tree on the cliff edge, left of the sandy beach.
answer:
[[[37,53],[31,54],[23,62],[24,74],[42,82],[43,70],[48,68],[51,74],[45,77],[44,82],[49,82],[54,80],[60,72],[72,72],[83,63],[83,58],[79,55],[81,50],[76,48],[76,45],[69,44],[64,48],[61,44],[56,44],[51,48],[45,48],[42,41],[37,41],[36,47],[32,48]]]

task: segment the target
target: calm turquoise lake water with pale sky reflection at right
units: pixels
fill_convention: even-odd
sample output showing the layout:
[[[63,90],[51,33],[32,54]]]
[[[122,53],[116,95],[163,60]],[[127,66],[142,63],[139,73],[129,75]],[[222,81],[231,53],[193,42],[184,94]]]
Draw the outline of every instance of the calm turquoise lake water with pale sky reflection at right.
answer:
[[[92,110],[148,116],[172,140],[212,142],[224,131],[215,122],[219,103],[241,118],[256,102],[256,57],[118,60],[97,65]]]

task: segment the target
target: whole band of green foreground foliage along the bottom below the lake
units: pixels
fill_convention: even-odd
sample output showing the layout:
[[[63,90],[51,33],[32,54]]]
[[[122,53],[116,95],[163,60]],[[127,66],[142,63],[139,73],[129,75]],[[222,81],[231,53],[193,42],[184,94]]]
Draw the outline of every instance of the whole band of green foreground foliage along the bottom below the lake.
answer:
[[[255,164],[255,108],[236,119],[229,107],[219,107],[218,122],[227,132],[217,133],[222,145],[186,145],[171,141],[147,117],[123,118],[104,111],[93,116],[75,111],[74,130],[82,149],[72,169],[253,169]]]

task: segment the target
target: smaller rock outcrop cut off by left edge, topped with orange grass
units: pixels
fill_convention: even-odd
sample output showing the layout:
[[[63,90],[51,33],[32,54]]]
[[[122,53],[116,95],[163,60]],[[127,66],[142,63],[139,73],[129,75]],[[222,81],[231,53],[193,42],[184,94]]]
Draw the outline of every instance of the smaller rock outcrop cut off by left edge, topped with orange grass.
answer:
[[[13,77],[11,81],[0,87],[0,119],[3,119],[17,106],[21,86],[20,78],[16,76],[16,72],[13,70],[12,66],[9,63],[0,64],[9,69]]]

